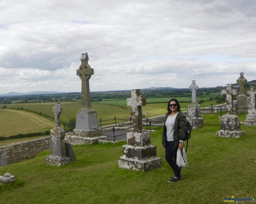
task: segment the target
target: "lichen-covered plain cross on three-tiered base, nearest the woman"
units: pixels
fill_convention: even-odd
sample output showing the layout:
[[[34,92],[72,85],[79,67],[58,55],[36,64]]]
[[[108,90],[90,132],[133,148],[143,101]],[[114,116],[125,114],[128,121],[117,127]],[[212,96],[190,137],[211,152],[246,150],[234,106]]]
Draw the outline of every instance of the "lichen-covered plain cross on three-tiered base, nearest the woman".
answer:
[[[123,145],[123,156],[119,157],[120,168],[150,171],[162,165],[162,159],[156,157],[156,146],[151,145],[150,133],[143,132],[141,106],[146,99],[141,98],[140,89],[132,90],[132,97],[127,98],[127,105],[132,106],[133,132],[126,134],[127,145]]]

